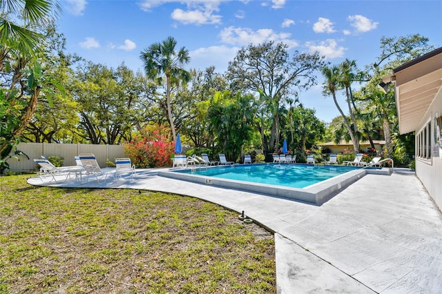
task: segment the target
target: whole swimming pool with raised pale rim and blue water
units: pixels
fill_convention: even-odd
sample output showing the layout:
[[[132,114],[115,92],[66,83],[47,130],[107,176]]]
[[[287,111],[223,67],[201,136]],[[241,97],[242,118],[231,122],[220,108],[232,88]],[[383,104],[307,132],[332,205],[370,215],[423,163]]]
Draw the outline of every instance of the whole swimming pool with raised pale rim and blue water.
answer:
[[[290,170],[293,166],[294,169]],[[273,168],[273,173],[267,175],[267,179],[262,182],[250,182],[252,178],[258,178],[259,173],[254,173],[255,167],[267,169]],[[296,167],[296,168],[295,168]],[[230,171],[229,171],[230,169]],[[226,170],[228,171],[226,173]],[[238,180],[233,176],[234,172],[242,171],[243,179]],[[307,179],[310,173],[313,172],[313,177],[319,179],[324,174],[329,173],[332,177],[322,179],[316,184],[312,184],[307,180],[307,183],[302,184],[303,188],[283,185],[292,180],[287,180],[288,173],[298,173],[302,180]],[[223,177],[220,177],[224,173]],[[340,173],[340,174],[338,174]],[[331,199],[340,190],[345,189],[350,184],[361,179],[367,173],[376,173],[381,175],[390,175],[390,168],[352,168],[347,166],[312,166],[307,164],[247,164],[235,165],[233,167],[215,166],[200,169],[170,169],[160,170],[158,175],[162,177],[169,177],[173,179],[180,179],[187,182],[194,182],[203,185],[220,186],[223,188],[230,188],[236,190],[245,190],[253,193],[260,193],[273,197],[284,197],[287,199],[294,199],[311,204],[323,204],[328,199]],[[248,179],[247,179],[248,178]],[[275,182],[269,184],[270,178]],[[254,179],[254,181],[259,181]],[[307,185],[307,186],[306,186]]]

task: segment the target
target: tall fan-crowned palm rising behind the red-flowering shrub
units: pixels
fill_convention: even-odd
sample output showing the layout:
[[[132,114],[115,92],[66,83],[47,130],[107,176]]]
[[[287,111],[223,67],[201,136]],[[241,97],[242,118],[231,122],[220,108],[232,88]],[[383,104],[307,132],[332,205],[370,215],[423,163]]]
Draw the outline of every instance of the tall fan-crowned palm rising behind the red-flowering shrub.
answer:
[[[142,51],[140,56],[146,75],[150,79],[160,85],[164,76],[166,77],[166,110],[173,141],[176,141],[176,130],[172,116],[171,89],[173,86],[178,86],[180,82],[186,83],[191,79],[191,74],[182,69],[182,66],[190,61],[189,51],[182,47],[177,52],[176,45],[177,41],[173,37],[167,37],[161,43],[153,43]]]

